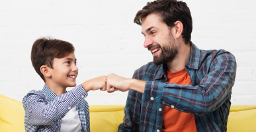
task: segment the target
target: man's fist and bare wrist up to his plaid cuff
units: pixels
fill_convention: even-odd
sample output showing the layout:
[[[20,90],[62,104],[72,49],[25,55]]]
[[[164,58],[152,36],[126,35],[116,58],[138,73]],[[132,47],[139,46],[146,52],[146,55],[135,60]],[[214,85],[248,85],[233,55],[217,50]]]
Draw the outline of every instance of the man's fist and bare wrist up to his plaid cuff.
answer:
[[[140,81],[137,79],[126,79],[124,77],[120,77],[115,75],[114,73],[108,74],[107,77],[107,91],[114,92],[116,90],[120,90],[122,92],[128,90],[136,90],[138,92],[144,93],[146,81]]]

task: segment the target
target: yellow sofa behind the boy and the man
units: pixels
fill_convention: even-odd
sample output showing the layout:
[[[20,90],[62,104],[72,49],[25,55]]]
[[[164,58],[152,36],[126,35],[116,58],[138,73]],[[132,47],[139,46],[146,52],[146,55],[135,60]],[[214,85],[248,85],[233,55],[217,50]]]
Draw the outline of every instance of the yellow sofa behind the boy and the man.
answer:
[[[112,132],[124,117],[124,105],[89,106],[92,132]],[[0,132],[24,132],[22,102],[0,94]],[[228,118],[228,132],[256,131],[256,106],[232,105]]]

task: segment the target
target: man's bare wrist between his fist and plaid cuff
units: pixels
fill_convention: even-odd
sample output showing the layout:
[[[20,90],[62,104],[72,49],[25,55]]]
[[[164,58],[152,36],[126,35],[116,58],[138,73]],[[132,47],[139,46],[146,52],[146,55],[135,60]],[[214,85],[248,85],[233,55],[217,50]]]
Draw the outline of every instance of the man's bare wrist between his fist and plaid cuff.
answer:
[[[128,79],[128,89],[136,90],[144,94],[146,81],[138,80],[138,79]]]

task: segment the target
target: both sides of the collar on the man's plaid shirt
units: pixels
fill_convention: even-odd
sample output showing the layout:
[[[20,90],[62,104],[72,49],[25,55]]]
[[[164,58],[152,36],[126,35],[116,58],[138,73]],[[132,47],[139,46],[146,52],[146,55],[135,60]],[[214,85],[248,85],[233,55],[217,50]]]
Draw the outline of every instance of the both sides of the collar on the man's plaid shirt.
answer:
[[[191,44],[191,55],[189,55],[189,60],[186,63],[186,66],[190,69],[198,69],[198,63],[199,63],[199,57],[200,57],[200,49],[198,49],[193,43]],[[157,67],[159,70],[157,72],[157,75],[155,75],[155,79],[161,79],[161,77],[165,77],[167,79],[166,70],[167,65],[161,64]]]

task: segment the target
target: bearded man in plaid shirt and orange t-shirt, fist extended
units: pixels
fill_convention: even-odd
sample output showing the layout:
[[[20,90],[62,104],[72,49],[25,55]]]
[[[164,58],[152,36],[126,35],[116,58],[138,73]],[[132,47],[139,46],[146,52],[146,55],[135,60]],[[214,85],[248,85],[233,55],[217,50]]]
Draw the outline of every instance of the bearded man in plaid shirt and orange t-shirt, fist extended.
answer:
[[[134,22],[142,26],[153,63],[133,79],[108,75],[108,92],[130,90],[118,131],[227,131],[234,55],[192,44],[192,17],[182,1],[147,3]]]

